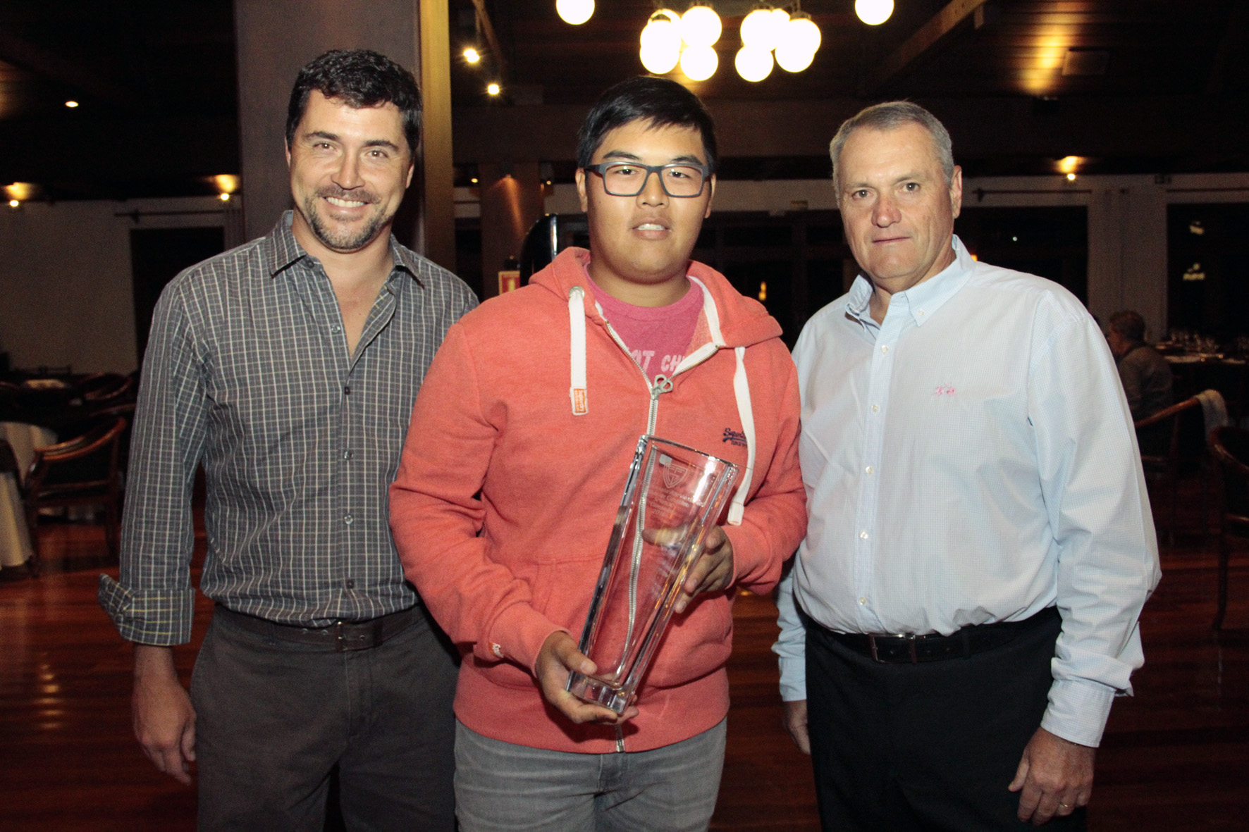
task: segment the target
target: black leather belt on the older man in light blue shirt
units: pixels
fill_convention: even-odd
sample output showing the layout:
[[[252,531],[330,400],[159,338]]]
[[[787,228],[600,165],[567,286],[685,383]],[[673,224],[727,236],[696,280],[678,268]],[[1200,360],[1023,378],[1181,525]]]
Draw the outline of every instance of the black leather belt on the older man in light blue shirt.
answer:
[[[1045,607],[1023,621],[1000,621],[997,623],[963,627],[948,636],[929,633],[916,636],[911,633],[877,635],[833,632],[816,625],[823,633],[853,650],[861,656],[882,665],[918,665],[919,662],[939,662],[947,658],[967,658],[995,647],[1010,643],[1025,630],[1039,627],[1059,618],[1057,607]]]

